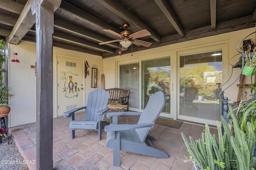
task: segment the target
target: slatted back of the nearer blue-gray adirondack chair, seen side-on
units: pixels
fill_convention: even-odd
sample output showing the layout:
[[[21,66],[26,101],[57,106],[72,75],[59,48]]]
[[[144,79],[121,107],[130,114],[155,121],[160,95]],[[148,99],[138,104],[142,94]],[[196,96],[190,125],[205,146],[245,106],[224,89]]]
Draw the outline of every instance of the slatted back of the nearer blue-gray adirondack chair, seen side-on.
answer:
[[[154,122],[160,115],[162,109],[164,108],[164,105],[165,97],[163,92],[158,91],[155,94],[152,94],[148,100],[148,104],[140,115],[138,124]],[[136,131],[140,137],[141,142],[144,142],[148,135],[148,131],[150,131],[150,128],[144,127],[136,129]]]

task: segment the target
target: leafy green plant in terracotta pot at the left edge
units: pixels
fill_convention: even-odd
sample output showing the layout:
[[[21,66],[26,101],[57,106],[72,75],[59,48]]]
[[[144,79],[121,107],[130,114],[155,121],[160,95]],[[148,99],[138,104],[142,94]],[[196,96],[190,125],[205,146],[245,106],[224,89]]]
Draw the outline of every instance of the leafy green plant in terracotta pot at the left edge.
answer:
[[[3,117],[10,112],[8,99],[11,96],[8,86],[2,85],[3,73],[6,72],[6,69],[3,67],[3,63],[6,62],[7,59],[4,49],[4,40],[0,39],[0,117]]]

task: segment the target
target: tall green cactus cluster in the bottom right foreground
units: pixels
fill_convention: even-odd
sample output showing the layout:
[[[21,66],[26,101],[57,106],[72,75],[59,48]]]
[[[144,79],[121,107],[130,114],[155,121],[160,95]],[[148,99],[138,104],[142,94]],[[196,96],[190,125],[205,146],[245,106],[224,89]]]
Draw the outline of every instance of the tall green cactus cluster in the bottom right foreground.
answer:
[[[247,122],[248,133],[243,133],[234,113],[230,114],[234,124],[234,136],[228,123],[222,116],[224,134],[222,135],[220,123],[217,121],[218,141],[212,135],[209,126],[205,125],[202,139],[194,141],[186,139],[181,133],[189,154],[192,155],[201,170],[255,170],[256,158],[253,157],[255,147],[255,133],[250,122]]]

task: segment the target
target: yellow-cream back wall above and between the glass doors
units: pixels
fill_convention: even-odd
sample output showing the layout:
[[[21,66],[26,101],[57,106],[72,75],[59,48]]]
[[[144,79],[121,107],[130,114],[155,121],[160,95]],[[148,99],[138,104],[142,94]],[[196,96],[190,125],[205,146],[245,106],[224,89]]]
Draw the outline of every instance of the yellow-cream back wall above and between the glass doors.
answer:
[[[175,63],[178,60],[178,56],[176,55],[178,51],[183,51],[184,49],[205,47],[207,45],[212,45],[212,44],[216,45],[223,42],[227,44],[227,55],[223,56],[223,63],[227,64],[227,67],[223,69],[223,83],[224,83],[229,78],[232,72],[232,66],[230,66],[230,64],[234,64],[236,60],[241,56],[240,54],[237,55],[236,57],[234,57],[234,59],[230,61],[230,64],[229,64],[229,60],[234,55],[238,54],[238,51],[237,51],[238,43],[246,35],[248,35],[249,33],[252,33],[253,31],[255,31],[255,29],[250,28],[250,29],[245,29],[241,31],[234,31],[234,32],[225,33],[221,35],[195,39],[195,40],[177,43],[173,45],[167,45],[164,47],[158,47],[158,48],[149,49],[145,51],[134,52],[133,56],[131,56],[131,54],[127,54],[122,56],[111,57],[108,59],[103,59],[103,72],[106,78],[105,86],[106,88],[113,88],[115,86],[118,86],[116,82],[116,74],[117,74],[116,62],[118,61],[127,60],[127,59],[136,59],[136,58],[141,60],[141,59],[146,59],[147,57],[152,58],[152,56],[157,58],[157,57],[164,57],[166,56],[166,54],[169,54],[171,56],[171,63],[173,62]],[[255,43],[255,35],[256,34],[252,34],[246,39],[251,39]],[[240,47],[242,47],[242,45],[240,45]],[[175,68],[175,67],[172,67],[172,68]],[[178,69],[178,67],[176,67],[176,69]],[[171,72],[176,72],[176,69],[171,70]],[[229,86],[232,82],[234,82],[234,80],[240,75],[240,71],[241,71],[240,68],[234,68],[232,77],[230,78],[228,83],[224,85],[222,89],[224,89],[225,87]],[[175,80],[171,80],[171,81],[176,83]],[[239,79],[234,83],[234,85],[232,85],[230,88],[225,90],[225,96],[227,96],[230,99],[230,102],[236,102],[236,98],[238,94],[238,88],[236,84],[239,84]],[[244,84],[250,84],[250,76],[245,76]]]

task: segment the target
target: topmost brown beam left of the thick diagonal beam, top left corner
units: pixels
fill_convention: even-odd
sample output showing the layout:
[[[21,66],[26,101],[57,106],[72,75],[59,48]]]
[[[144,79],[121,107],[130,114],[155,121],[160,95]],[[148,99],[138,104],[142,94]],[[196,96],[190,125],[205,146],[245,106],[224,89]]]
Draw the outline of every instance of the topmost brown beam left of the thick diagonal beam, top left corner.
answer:
[[[16,14],[21,14],[24,5],[14,2],[12,0],[0,0],[0,8],[10,12],[14,12]]]

